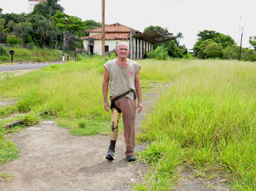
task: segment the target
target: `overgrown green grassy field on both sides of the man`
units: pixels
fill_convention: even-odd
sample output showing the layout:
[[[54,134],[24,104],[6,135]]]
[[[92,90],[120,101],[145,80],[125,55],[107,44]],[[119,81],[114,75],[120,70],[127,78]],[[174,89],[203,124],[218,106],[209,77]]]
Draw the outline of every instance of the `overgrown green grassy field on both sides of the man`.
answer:
[[[150,173],[134,190],[170,190],[182,165],[224,172],[234,190],[256,190],[256,64],[218,60],[138,61],[143,92],[149,82],[172,85],[144,120],[138,141],[150,141],[139,154]],[[1,118],[26,112],[27,125],[40,121],[35,113],[48,111],[70,133],[108,134],[111,116],[103,109],[102,76],[105,60],[86,59],[52,65],[21,76],[3,78],[1,99],[16,99],[0,107]],[[2,119],[0,127],[11,119]],[[121,123],[120,123],[121,124]],[[18,131],[22,126],[16,127]],[[14,158],[15,144],[0,128],[0,162]],[[13,156],[10,156],[13,154]]]

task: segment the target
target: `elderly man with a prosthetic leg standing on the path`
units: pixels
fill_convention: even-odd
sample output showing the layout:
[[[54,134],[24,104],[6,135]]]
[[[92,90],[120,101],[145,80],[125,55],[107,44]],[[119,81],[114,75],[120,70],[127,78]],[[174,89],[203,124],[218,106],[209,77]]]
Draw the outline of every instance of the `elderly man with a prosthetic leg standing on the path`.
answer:
[[[105,72],[102,83],[104,108],[112,110],[110,145],[106,159],[114,160],[115,144],[118,136],[118,121],[123,114],[124,139],[126,144],[126,158],[136,161],[134,156],[135,146],[135,116],[142,111],[141,83],[139,71],[141,66],[127,56],[130,53],[129,45],[121,42],[116,47],[117,58],[104,64]],[[110,83],[109,83],[110,82]],[[108,83],[111,105],[107,99]],[[136,89],[136,92],[134,91]],[[138,103],[136,107],[136,94]]]

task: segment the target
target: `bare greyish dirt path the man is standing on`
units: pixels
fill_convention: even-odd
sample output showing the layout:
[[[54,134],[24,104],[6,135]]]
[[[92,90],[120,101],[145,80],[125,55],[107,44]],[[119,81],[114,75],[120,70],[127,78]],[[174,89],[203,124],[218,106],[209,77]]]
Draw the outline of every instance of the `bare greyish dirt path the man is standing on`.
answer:
[[[157,96],[157,92],[146,95],[136,127]],[[117,139],[114,161],[105,159],[109,136],[73,136],[53,121],[28,127],[12,140],[21,151],[20,158],[1,167],[0,172],[14,175],[13,182],[0,178],[1,191],[131,191],[132,184],[141,181],[140,174],[147,172],[141,162],[128,163],[125,159],[123,133]],[[143,149],[144,145],[136,145],[137,151]],[[181,172],[177,191],[213,191],[187,175]]]

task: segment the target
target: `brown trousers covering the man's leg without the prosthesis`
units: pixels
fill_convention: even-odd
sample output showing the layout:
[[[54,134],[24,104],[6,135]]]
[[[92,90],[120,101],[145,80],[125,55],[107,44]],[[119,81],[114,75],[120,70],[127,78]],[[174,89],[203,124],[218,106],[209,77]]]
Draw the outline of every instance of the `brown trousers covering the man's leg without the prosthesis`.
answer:
[[[136,101],[124,96],[115,101],[116,107],[122,111],[124,124],[124,140],[126,144],[126,157],[134,155],[135,147],[135,117],[136,117]]]

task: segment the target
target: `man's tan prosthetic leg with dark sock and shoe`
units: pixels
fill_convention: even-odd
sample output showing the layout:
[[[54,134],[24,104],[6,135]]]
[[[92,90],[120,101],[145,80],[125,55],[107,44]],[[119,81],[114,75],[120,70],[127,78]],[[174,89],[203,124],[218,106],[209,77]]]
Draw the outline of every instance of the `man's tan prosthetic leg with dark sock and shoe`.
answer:
[[[115,144],[118,136],[118,122],[120,119],[121,113],[117,112],[116,109],[112,109],[112,117],[111,117],[111,133],[110,133],[110,146],[108,148],[106,159],[114,160],[115,153]]]

